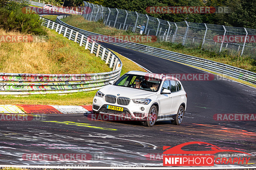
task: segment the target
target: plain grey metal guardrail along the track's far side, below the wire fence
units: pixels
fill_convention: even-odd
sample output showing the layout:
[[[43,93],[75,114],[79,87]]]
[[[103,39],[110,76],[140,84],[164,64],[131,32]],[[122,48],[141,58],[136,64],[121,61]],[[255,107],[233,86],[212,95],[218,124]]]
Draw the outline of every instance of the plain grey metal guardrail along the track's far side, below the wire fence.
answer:
[[[68,24],[64,23],[63,21],[61,21],[60,20],[61,18],[63,18],[63,17],[58,16],[56,19],[56,22],[59,24],[65,25],[69,28],[72,28],[73,30],[79,31],[86,36],[104,36],[101,34],[85,31],[85,30],[76,28],[74,26],[68,25]],[[215,62],[215,61],[211,61],[211,60],[206,60],[206,59],[202,59],[202,58],[198,58],[198,57],[194,57],[194,56],[190,56],[190,55],[175,53],[172,51],[163,50],[163,49],[152,47],[152,46],[146,46],[143,44],[124,41],[121,39],[117,40],[116,38],[113,38],[112,41],[110,41],[111,40],[110,38],[108,38],[108,39],[109,39],[108,43],[110,43],[110,44],[122,46],[125,48],[136,50],[136,51],[139,51],[142,53],[147,53],[150,55],[155,55],[155,56],[162,57],[165,59],[171,59],[173,61],[180,62],[183,64],[188,64],[191,66],[204,68],[209,71],[213,71],[215,73],[227,75],[227,76],[239,79],[239,80],[243,80],[243,81],[250,82],[252,84],[256,84],[256,73],[250,72],[250,71],[247,71],[247,70],[244,70],[241,68],[229,66],[227,64],[223,64],[223,63],[219,63],[219,62]]]

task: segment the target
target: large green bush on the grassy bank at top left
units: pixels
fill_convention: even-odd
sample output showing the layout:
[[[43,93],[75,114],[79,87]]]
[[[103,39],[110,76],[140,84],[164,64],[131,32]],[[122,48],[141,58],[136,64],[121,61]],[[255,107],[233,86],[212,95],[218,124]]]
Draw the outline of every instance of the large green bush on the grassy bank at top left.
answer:
[[[25,14],[20,8],[9,11],[7,7],[0,8],[0,28],[6,32],[18,31],[34,35],[46,35],[45,28],[37,14]]]

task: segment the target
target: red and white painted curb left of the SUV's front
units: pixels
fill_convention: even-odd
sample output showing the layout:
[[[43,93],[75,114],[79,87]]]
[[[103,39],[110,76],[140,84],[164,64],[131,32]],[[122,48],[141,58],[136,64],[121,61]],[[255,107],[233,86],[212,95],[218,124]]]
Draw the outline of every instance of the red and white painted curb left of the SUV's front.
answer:
[[[28,104],[4,104],[0,105],[0,113],[21,114],[90,114],[92,105],[28,105]]]

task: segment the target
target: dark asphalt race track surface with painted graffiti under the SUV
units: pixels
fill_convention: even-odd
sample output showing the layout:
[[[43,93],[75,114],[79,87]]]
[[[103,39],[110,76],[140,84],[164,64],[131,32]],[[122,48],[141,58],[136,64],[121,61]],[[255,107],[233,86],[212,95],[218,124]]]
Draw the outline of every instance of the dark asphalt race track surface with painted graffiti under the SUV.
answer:
[[[102,44],[153,73],[205,73],[156,56]],[[147,155],[161,155],[163,146],[173,147],[185,142],[201,141],[221,149],[250,153],[252,156],[246,155],[251,158],[249,164],[234,166],[255,166],[255,121],[216,121],[213,115],[256,113],[256,90],[228,79],[182,81],[182,84],[188,94],[188,105],[180,126],[172,125],[170,121],[157,122],[153,127],[144,127],[135,121],[91,121],[86,114],[44,115],[33,121],[1,121],[0,165],[159,167],[163,166],[163,160]],[[202,151],[211,150],[211,147],[189,145],[182,149]],[[28,156],[39,153],[87,154],[87,160],[32,160]],[[219,155],[224,153],[236,152],[220,152],[215,156],[225,157]]]

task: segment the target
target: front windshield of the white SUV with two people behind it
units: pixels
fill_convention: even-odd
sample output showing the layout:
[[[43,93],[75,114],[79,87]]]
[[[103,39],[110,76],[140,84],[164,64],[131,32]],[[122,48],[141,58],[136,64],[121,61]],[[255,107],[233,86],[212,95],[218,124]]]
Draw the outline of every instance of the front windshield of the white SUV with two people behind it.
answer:
[[[146,91],[158,91],[160,84],[161,79],[158,78],[147,75],[124,74],[114,85]]]

